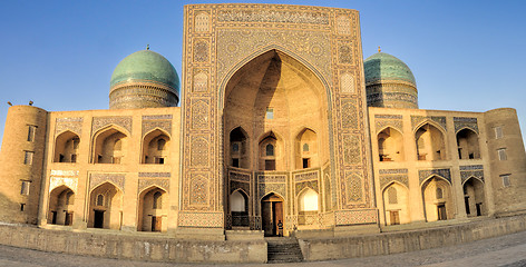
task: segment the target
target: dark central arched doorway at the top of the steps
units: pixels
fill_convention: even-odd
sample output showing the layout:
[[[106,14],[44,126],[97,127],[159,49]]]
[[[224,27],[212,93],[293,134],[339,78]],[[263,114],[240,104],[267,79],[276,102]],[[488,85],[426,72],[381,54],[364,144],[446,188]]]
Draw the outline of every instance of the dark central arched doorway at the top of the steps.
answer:
[[[265,236],[283,236],[282,230],[285,225],[283,217],[283,198],[271,192],[261,199],[261,217]]]

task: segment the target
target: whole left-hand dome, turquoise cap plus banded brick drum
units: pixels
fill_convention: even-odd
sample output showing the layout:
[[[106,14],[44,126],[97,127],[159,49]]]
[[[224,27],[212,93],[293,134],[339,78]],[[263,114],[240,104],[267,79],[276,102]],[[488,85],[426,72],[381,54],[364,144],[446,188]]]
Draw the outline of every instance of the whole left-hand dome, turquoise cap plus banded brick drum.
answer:
[[[111,75],[110,109],[175,107],[178,102],[179,77],[159,53],[148,49],[132,53]]]

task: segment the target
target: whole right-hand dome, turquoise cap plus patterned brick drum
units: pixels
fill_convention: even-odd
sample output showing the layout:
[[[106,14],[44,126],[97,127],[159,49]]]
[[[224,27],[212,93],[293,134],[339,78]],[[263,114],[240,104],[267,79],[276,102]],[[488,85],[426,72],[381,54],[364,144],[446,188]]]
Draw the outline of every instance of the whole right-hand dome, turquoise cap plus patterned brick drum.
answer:
[[[367,106],[418,109],[415,76],[400,59],[381,52],[363,61]]]

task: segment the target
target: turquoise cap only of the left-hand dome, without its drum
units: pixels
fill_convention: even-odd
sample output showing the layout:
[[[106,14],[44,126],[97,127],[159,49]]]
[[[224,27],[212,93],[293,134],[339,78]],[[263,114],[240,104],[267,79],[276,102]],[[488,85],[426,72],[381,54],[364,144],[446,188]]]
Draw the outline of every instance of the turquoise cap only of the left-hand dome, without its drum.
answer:
[[[110,88],[127,81],[153,81],[171,87],[179,92],[179,77],[174,66],[163,56],[150,50],[134,52],[115,68]]]

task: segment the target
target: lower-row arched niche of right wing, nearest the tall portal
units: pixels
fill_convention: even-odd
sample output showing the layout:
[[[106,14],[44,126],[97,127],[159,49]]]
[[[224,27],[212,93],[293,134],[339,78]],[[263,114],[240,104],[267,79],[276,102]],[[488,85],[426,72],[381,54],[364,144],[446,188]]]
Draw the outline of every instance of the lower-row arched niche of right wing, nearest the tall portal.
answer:
[[[382,196],[386,225],[401,225],[411,221],[409,191],[405,186],[392,182],[383,189]]]

